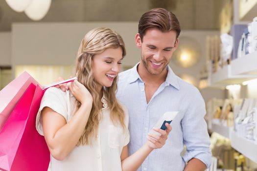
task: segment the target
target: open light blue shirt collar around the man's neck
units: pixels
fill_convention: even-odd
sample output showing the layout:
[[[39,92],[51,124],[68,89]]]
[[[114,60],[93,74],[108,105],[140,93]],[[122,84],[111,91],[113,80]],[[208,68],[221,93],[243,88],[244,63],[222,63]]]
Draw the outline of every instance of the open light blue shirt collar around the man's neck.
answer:
[[[133,83],[135,81],[137,81],[138,79],[140,79],[141,82],[142,79],[140,78],[140,75],[138,73],[137,67],[140,64],[140,62],[138,64],[136,64],[133,68],[131,68],[131,75],[128,78],[129,83]],[[174,74],[174,72],[172,71],[172,69],[170,68],[169,65],[167,65],[166,69],[168,70],[168,74],[166,77],[166,85],[172,85],[177,89],[180,89],[179,83],[178,83],[178,78],[177,76]]]

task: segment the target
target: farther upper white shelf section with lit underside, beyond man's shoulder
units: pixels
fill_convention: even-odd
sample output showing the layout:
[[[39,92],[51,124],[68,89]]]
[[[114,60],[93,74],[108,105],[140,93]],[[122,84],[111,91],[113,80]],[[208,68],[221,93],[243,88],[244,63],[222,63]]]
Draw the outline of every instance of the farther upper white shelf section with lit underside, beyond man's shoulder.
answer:
[[[231,64],[223,66],[222,69],[210,75],[211,84],[232,85],[241,84],[244,81],[253,79],[252,75],[233,75]]]

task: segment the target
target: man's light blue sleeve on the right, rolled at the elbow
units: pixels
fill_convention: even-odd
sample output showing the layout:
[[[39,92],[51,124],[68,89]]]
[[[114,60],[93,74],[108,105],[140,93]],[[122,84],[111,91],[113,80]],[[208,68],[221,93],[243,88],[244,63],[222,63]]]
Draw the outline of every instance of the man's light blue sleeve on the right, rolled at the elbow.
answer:
[[[209,168],[211,150],[210,136],[204,120],[206,114],[205,103],[198,90],[192,98],[182,120],[184,144],[187,147],[187,153],[183,156],[183,159],[188,162],[192,158],[197,158]]]

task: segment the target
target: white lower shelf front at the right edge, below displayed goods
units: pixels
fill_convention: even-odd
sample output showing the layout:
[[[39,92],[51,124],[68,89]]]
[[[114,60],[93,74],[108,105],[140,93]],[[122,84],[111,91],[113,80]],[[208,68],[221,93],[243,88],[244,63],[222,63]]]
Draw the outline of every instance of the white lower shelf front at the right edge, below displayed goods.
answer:
[[[231,132],[231,146],[257,163],[257,143]]]

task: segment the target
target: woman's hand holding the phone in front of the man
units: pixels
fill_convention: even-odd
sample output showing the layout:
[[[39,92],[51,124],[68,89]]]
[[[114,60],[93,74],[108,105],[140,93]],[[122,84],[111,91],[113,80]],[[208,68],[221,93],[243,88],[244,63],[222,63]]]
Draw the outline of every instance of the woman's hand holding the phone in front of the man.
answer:
[[[153,128],[156,132],[159,132],[161,135],[156,135],[152,133],[148,133],[148,141],[146,142],[147,146],[150,149],[160,149],[164,146],[166,140],[168,139],[168,134],[171,131],[172,127],[166,123],[166,130],[160,128]]]

